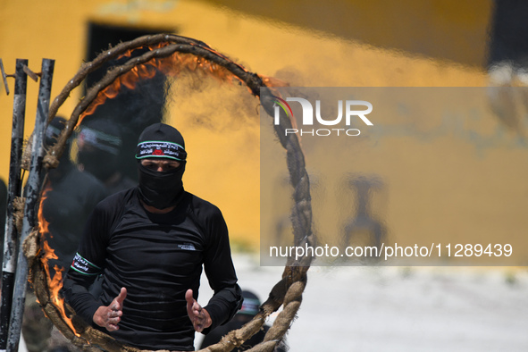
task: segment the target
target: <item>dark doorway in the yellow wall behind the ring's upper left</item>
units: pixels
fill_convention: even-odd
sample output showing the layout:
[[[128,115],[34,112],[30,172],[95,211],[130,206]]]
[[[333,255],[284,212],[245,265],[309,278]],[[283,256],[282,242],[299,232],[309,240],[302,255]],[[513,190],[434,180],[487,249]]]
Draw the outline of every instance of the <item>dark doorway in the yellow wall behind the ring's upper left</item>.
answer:
[[[86,60],[90,62],[110,46],[116,46],[121,42],[145,36],[148,34],[173,33],[174,29],[141,29],[127,28],[96,23],[88,24],[88,47]],[[138,48],[132,52],[131,57],[147,52],[148,48]],[[101,80],[106,71],[113,66],[121,65],[130,60],[130,57],[122,57],[105,63],[100,69],[92,72],[85,80],[85,91],[93,87]],[[122,140],[119,155],[112,155],[112,163],[100,163],[100,167],[114,167],[117,172],[129,179],[117,188],[110,191],[120,190],[123,186],[130,185],[130,180],[136,182],[138,179],[137,165],[134,158],[134,150],[138,136],[148,125],[161,122],[165,105],[165,77],[157,72],[155,77],[141,80],[135,88],[122,87],[120,93],[112,99],[106,99],[104,105],[99,105],[95,113],[88,116],[81,123],[81,127],[101,130],[111,135],[119,134]],[[116,132],[117,131],[117,132]],[[104,137],[104,136],[103,136]],[[88,170],[89,171],[89,170]],[[97,175],[109,172],[94,172]],[[105,181],[105,180],[103,180]],[[107,183],[107,182],[106,182]]]

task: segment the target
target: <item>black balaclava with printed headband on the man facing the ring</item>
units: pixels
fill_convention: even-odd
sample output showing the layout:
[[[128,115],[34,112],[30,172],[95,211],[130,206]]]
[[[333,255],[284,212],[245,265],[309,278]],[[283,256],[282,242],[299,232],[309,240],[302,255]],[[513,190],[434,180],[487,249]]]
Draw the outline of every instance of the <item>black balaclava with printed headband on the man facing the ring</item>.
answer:
[[[169,159],[180,166],[166,172],[156,172],[141,164],[142,159]],[[155,123],[143,130],[136,147],[138,159],[139,196],[147,205],[156,209],[178,204],[183,195],[183,172],[187,153],[180,132],[172,126]]]

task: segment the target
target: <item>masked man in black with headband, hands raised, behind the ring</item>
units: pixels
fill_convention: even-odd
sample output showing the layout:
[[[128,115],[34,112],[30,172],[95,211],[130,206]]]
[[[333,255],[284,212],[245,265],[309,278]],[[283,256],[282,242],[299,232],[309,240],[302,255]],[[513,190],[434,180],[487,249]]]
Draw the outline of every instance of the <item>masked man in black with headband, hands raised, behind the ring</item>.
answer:
[[[191,351],[195,331],[227,323],[241,305],[220,210],[183,189],[187,153],[163,123],[138,140],[139,185],[107,197],[91,214],[63,295],[76,313],[142,349]],[[214,296],[197,304],[202,265]],[[89,285],[102,275],[102,293]]]

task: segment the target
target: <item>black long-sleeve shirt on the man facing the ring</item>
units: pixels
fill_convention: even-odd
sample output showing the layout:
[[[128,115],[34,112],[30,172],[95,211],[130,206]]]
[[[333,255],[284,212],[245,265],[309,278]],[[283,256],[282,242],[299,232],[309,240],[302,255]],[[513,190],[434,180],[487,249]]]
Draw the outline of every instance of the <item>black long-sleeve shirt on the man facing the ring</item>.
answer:
[[[202,264],[214,289],[205,306],[213,321],[209,331],[228,322],[241,303],[222,213],[185,192],[171,212],[151,214],[138,189],[128,189],[107,197],[90,215],[63,294],[92,323],[97,308],[108,306],[124,287],[120,329],[105,332],[136,348],[194,350],[185,292],[192,289],[197,299]],[[95,298],[88,287],[99,274],[102,293]]]

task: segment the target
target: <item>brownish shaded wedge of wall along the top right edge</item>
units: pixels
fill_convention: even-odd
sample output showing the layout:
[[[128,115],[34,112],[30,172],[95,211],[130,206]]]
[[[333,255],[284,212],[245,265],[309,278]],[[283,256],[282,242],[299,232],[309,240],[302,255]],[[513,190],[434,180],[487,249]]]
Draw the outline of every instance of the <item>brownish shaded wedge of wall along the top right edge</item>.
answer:
[[[208,0],[344,40],[482,66],[491,0]]]

